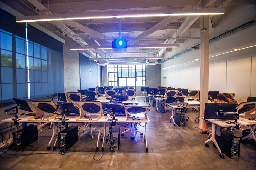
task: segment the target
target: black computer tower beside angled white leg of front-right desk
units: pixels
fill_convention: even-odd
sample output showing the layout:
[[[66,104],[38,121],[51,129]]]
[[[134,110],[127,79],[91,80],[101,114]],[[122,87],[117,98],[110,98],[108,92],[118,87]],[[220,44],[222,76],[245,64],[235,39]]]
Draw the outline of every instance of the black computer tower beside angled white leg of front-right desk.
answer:
[[[222,153],[229,158],[239,158],[240,138],[228,132],[221,131],[221,135],[215,135],[215,139]],[[216,148],[214,143],[213,146]]]

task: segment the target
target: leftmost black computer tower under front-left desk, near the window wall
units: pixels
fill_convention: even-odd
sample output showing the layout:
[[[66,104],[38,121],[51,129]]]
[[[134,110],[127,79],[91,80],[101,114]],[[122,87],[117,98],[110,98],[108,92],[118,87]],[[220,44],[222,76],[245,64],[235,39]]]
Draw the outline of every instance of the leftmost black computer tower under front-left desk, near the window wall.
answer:
[[[22,150],[38,140],[37,125],[29,125],[13,133],[13,139],[17,147]]]

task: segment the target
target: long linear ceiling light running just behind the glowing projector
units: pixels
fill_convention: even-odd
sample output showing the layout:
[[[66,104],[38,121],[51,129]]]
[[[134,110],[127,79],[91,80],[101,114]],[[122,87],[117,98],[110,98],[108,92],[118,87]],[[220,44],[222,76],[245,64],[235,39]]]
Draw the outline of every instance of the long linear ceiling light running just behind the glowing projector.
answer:
[[[148,44],[148,45],[131,45],[127,48],[166,48],[166,47],[180,47],[179,44]],[[97,47],[75,47],[70,50],[97,50],[97,49],[112,49],[112,46],[97,46]]]

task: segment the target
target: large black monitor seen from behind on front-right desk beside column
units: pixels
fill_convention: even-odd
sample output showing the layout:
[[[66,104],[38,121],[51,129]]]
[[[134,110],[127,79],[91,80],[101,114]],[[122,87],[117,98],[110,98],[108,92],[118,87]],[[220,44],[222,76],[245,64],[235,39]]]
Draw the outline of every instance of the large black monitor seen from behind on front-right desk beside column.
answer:
[[[235,103],[205,103],[204,119],[235,120],[236,106]]]

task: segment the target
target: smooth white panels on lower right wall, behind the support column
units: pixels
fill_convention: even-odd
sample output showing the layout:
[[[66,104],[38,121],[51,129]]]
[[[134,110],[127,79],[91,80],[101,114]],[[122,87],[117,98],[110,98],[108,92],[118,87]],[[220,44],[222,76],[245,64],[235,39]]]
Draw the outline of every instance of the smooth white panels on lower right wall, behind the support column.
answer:
[[[200,67],[168,72],[167,86],[200,89]],[[209,65],[209,91],[234,92],[239,102],[256,96],[256,57]]]

